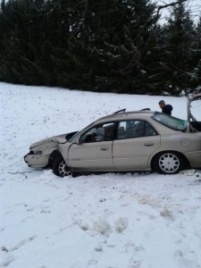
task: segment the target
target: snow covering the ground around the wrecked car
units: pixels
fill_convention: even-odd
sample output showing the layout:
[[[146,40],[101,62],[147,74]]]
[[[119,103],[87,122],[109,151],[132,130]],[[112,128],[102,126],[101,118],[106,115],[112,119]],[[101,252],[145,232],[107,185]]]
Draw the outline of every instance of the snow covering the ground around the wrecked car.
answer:
[[[23,161],[29,145],[122,108],[186,119],[185,96],[98,94],[0,83],[0,267],[201,267],[199,173],[56,177]]]

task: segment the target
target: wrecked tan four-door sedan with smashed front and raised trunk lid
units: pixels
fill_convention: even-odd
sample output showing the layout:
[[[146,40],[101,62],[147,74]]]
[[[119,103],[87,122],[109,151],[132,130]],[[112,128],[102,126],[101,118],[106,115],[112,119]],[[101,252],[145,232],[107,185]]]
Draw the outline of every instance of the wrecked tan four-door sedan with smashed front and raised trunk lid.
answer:
[[[154,111],[102,117],[84,130],[46,138],[30,146],[30,167],[51,167],[64,177],[94,172],[153,171],[176,174],[201,168],[201,121],[190,112],[201,94],[188,95],[186,121]]]

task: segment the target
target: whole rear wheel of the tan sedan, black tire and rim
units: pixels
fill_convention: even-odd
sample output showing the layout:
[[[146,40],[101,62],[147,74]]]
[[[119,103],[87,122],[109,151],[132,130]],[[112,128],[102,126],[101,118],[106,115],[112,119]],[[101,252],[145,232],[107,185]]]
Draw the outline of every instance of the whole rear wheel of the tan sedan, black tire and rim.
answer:
[[[155,156],[153,169],[160,174],[177,174],[183,168],[182,157],[174,152],[163,152]]]

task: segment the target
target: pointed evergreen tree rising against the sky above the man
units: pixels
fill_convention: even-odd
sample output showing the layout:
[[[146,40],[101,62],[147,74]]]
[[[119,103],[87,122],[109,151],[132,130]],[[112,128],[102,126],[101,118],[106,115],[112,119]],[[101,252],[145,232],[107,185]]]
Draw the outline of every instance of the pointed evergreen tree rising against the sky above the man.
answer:
[[[163,32],[163,78],[168,93],[188,89],[194,68],[195,29],[184,4],[174,6]]]

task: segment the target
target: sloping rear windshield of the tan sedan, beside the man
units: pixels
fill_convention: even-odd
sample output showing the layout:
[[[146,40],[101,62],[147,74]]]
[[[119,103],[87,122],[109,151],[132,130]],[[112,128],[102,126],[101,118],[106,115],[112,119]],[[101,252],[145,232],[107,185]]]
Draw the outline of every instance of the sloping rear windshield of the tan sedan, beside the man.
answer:
[[[160,122],[165,127],[172,129],[172,130],[186,130],[187,129],[187,121],[182,120],[180,118],[176,118],[165,113],[155,112],[154,116],[152,117],[155,121]]]

